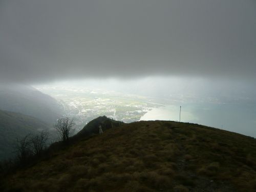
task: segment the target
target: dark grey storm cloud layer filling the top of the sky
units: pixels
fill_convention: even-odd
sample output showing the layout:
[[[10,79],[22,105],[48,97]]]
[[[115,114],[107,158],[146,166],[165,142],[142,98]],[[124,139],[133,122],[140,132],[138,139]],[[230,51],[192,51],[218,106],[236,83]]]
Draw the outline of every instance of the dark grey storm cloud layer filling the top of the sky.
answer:
[[[0,1],[1,81],[254,79],[256,2]]]

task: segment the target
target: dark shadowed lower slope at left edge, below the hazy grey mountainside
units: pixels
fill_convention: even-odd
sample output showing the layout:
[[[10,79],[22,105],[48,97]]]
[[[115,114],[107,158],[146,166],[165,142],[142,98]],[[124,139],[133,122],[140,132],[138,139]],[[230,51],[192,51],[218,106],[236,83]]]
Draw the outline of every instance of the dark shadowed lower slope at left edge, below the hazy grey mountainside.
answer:
[[[0,160],[14,156],[16,138],[49,129],[46,123],[34,117],[0,110]]]

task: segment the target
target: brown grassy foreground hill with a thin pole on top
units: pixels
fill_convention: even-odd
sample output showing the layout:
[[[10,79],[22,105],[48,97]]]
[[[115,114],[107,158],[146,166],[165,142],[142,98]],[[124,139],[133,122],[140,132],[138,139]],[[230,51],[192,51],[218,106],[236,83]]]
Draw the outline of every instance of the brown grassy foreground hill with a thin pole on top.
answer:
[[[198,124],[140,121],[9,175],[2,191],[255,191],[255,162],[254,138]]]

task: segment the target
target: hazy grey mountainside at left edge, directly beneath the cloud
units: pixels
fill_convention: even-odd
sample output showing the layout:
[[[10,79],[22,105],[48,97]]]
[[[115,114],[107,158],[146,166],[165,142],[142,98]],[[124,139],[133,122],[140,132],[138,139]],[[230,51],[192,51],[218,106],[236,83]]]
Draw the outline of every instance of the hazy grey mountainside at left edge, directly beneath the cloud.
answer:
[[[54,98],[22,84],[0,85],[0,110],[30,115],[50,125],[63,115]]]

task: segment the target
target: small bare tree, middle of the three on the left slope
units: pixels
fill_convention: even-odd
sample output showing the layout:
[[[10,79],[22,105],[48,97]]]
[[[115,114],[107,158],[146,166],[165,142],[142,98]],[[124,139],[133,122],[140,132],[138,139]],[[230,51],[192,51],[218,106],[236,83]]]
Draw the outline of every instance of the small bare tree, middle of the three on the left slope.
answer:
[[[40,135],[36,135],[31,138],[31,146],[33,148],[33,154],[36,156],[41,155],[41,152],[46,148],[46,142],[49,138],[49,133],[42,131]]]

